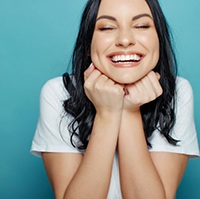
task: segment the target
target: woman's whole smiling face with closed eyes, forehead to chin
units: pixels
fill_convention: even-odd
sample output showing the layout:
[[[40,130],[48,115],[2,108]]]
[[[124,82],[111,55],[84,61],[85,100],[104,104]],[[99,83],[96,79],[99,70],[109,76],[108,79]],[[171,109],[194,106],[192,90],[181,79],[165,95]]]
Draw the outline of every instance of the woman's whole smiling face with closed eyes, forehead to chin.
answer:
[[[102,0],[91,58],[96,68],[121,84],[133,83],[157,64],[159,40],[145,0]]]

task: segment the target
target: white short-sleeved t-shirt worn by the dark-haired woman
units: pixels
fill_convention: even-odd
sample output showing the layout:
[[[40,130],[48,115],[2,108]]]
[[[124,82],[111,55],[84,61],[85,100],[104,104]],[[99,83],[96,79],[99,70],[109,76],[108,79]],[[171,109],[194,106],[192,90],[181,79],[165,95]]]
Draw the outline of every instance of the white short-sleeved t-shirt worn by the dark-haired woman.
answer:
[[[194,124],[193,92],[189,82],[181,77],[177,78],[176,123],[171,135],[180,140],[178,146],[168,143],[157,130],[149,138],[152,148],[150,152],[172,152],[199,156],[197,133]],[[69,97],[62,77],[49,80],[41,90],[40,117],[35,136],[32,141],[31,152],[41,156],[41,152],[80,153],[70,142],[68,124],[71,117],[66,115],[63,102]],[[115,154],[112,178],[108,199],[121,199],[118,156]]]

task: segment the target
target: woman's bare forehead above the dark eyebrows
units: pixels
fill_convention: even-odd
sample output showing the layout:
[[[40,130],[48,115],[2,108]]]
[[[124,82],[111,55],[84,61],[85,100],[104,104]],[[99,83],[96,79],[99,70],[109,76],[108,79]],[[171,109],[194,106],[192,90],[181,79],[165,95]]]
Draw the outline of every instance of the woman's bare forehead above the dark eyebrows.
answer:
[[[152,16],[145,0],[101,0],[98,16],[109,14],[113,16],[137,15],[147,13]]]

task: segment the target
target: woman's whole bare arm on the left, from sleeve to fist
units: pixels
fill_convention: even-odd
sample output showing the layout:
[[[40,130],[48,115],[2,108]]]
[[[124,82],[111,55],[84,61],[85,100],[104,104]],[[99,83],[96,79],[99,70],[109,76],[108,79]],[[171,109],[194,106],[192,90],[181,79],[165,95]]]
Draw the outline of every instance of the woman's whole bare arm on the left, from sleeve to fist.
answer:
[[[124,91],[98,70],[88,70],[85,91],[96,116],[85,154],[43,154],[56,199],[104,199],[109,190]]]

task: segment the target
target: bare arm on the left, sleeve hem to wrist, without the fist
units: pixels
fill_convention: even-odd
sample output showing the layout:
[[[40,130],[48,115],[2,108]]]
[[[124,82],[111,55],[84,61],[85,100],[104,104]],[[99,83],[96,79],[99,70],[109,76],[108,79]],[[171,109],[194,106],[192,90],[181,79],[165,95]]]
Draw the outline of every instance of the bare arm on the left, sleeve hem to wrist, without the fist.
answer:
[[[43,153],[45,168],[56,199],[106,198],[110,184],[118,129],[96,116],[84,155]],[[119,123],[119,121],[116,121]],[[111,123],[112,124],[112,123]],[[105,134],[105,129],[106,133]]]

